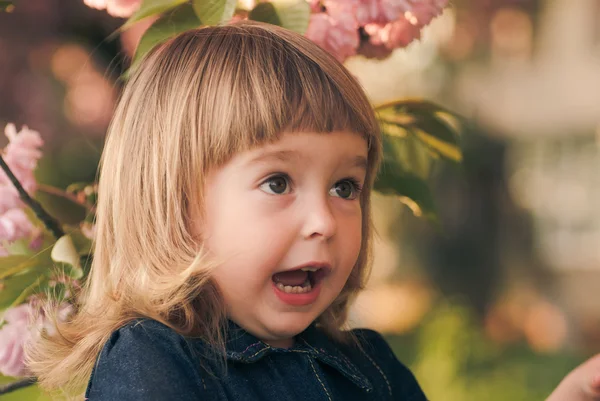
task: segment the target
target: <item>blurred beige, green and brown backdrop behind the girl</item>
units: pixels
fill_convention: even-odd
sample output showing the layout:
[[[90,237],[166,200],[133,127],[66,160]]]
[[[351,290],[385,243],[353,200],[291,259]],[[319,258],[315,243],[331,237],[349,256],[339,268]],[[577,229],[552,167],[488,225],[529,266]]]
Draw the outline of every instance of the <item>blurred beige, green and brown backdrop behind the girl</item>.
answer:
[[[346,62],[374,104],[424,98],[470,119],[464,163],[431,179],[438,223],[376,196],[351,322],[384,332],[432,401],[543,400],[600,352],[600,1],[453,3],[421,41]],[[0,125],[41,133],[37,198],[64,222],[84,210],[51,188],[94,180],[143,29],[107,39],[122,23],[82,1],[0,13]]]

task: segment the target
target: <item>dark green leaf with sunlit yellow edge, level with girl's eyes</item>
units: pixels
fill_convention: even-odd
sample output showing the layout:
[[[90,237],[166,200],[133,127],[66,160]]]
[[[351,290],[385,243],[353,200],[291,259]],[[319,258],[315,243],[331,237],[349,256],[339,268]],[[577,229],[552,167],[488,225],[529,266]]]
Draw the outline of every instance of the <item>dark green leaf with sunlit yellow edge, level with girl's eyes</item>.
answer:
[[[419,177],[402,170],[393,161],[383,162],[375,180],[375,191],[384,195],[400,197],[415,216],[436,219],[435,203],[427,183]]]

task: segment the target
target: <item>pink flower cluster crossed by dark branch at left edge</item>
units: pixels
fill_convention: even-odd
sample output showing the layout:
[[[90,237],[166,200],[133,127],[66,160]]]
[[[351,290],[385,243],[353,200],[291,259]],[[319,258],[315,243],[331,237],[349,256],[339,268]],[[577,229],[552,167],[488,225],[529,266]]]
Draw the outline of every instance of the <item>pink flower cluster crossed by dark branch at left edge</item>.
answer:
[[[26,126],[17,132],[14,124],[8,124],[5,134],[9,143],[2,151],[2,157],[28,194],[35,192],[37,183],[33,171],[37,166],[43,145],[40,134]],[[23,211],[19,193],[4,170],[0,169],[0,256],[8,252],[3,242],[37,235],[37,230]]]

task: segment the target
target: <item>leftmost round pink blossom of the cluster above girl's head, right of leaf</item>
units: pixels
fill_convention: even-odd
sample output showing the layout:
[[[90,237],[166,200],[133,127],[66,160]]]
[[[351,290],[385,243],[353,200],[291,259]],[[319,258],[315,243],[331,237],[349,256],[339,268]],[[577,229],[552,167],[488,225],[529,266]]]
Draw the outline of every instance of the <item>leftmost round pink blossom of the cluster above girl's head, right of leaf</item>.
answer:
[[[305,36],[340,62],[356,54],[360,41],[354,15],[341,8],[312,14]]]

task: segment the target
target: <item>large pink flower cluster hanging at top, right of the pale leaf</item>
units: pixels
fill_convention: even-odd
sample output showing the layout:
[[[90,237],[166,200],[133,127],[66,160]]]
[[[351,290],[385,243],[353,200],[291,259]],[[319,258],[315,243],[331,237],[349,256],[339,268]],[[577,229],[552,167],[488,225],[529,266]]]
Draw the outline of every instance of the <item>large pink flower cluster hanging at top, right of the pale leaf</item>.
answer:
[[[421,36],[448,0],[310,0],[306,36],[339,61],[382,58]]]

